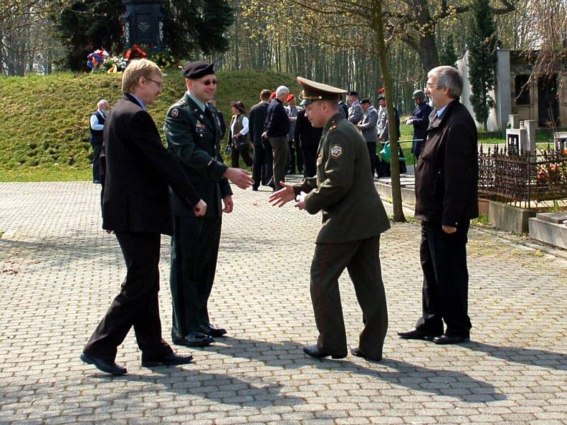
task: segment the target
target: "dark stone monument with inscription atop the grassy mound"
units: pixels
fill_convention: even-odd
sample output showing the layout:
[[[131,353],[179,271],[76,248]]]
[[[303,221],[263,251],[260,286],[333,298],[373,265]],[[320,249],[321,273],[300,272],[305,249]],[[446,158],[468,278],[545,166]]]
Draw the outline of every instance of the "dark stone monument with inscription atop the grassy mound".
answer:
[[[161,50],[164,47],[162,0],[123,0],[123,4],[125,46],[152,45]]]

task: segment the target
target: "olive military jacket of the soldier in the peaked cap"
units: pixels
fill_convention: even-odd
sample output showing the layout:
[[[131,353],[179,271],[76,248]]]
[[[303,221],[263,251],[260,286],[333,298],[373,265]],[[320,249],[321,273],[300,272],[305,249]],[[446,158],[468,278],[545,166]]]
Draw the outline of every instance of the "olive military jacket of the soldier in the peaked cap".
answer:
[[[317,176],[293,185],[304,191],[305,209],[322,212],[318,243],[366,239],[390,228],[374,188],[366,142],[341,113],[323,128],[317,153]]]

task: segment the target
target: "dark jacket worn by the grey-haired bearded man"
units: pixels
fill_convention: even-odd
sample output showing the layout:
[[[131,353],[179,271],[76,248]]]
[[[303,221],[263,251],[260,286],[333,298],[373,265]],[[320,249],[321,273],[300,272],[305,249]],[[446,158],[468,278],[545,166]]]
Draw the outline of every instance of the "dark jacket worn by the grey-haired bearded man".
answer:
[[[478,140],[471,113],[451,101],[430,115],[415,171],[415,218],[458,227],[478,217]]]

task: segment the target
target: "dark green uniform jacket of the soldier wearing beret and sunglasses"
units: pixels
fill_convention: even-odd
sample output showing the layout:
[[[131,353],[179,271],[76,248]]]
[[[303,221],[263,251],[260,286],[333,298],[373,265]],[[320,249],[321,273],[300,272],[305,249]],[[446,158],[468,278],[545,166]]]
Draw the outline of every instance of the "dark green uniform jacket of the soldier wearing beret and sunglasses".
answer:
[[[205,217],[220,217],[220,200],[232,195],[232,190],[228,180],[223,178],[228,166],[224,164],[220,154],[220,121],[217,111],[210,104],[207,108],[210,108],[210,116],[201,111],[186,92],[167,111],[164,132],[167,150],[178,157],[199,196],[207,204]],[[173,192],[172,213],[194,215]]]

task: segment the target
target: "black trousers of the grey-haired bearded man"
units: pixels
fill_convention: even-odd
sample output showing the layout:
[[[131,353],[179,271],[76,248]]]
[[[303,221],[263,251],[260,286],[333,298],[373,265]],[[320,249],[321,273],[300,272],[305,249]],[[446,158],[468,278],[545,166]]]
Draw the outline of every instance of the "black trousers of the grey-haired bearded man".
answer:
[[[416,329],[432,334],[469,336],[466,242],[470,222],[461,222],[453,234],[441,223],[423,222],[420,259],[423,270],[422,310]]]

